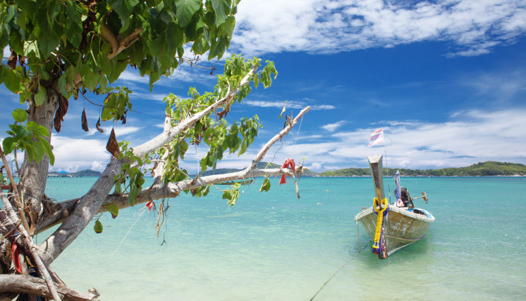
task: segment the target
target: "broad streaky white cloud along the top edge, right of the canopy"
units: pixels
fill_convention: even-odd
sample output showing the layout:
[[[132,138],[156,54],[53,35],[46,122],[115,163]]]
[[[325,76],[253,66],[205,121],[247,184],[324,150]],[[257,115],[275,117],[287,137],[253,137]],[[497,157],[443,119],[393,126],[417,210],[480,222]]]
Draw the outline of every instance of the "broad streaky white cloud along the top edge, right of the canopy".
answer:
[[[479,55],[525,29],[525,5],[514,0],[247,0],[239,4],[232,44],[252,55],[445,40],[455,55]]]

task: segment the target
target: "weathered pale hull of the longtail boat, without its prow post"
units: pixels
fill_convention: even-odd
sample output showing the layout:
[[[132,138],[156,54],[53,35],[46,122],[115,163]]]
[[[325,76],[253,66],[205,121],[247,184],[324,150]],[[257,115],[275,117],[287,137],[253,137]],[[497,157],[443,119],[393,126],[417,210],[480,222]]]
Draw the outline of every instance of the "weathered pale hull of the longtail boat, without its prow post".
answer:
[[[374,238],[377,216],[375,211],[373,211],[373,207],[371,207],[358,213],[354,220],[360,222],[369,237]],[[427,235],[429,224],[434,220],[434,216],[424,209],[399,208],[390,205],[389,213],[384,222],[387,254],[390,255],[401,248],[424,239]]]

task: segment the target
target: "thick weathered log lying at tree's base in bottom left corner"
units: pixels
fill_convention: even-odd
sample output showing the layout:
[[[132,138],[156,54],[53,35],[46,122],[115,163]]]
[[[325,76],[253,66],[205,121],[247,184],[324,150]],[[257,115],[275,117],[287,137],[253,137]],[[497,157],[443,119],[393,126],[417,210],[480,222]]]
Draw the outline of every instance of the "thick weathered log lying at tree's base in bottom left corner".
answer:
[[[97,300],[93,293],[75,291],[64,285],[55,283],[59,295],[64,301],[88,301]],[[53,298],[44,280],[25,275],[0,274],[0,293],[27,293],[34,296]]]

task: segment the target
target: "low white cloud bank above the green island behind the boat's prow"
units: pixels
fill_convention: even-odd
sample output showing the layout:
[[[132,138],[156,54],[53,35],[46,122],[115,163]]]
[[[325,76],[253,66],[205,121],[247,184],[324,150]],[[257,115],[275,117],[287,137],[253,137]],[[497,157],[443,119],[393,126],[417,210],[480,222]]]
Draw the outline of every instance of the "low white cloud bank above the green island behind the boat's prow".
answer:
[[[332,135],[330,142],[299,144],[296,152],[323,168],[365,167],[367,155],[384,154],[389,166],[407,168],[443,168],[469,166],[479,161],[526,163],[523,118],[526,109],[497,112],[471,110],[453,114],[443,123],[383,122],[385,144],[367,147],[369,135],[376,129],[357,129]]]

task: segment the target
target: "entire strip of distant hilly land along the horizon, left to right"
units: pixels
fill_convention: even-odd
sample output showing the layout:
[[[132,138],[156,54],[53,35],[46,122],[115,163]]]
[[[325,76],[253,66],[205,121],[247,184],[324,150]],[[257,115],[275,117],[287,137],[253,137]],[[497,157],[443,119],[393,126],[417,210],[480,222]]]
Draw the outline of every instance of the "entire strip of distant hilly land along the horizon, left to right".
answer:
[[[260,162],[258,169],[263,168],[280,168],[278,164]],[[242,169],[234,168],[217,168],[216,170],[206,170],[201,176],[210,176],[213,174],[226,174],[229,172],[238,172]],[[519,163],[507,163],[497,161],[486,161],[473,164],[472,166],[460,168],[440,168],[436,170],[411,170],[407,168],[384,167],[384,176],[389,172],[390,176],[395,174],[395,170],[400,172],[401,176],[526,176],[526,166]],[[95,170],[81,170],[79,172],[49,172],[49,176],[101,176],[101,172]],[[190,174],[195,176],[195,174]],[[369,168],[343,168],[340,170],[327,170],[325,172],[313,172],[304,170],[303,176],[371,176]]]

